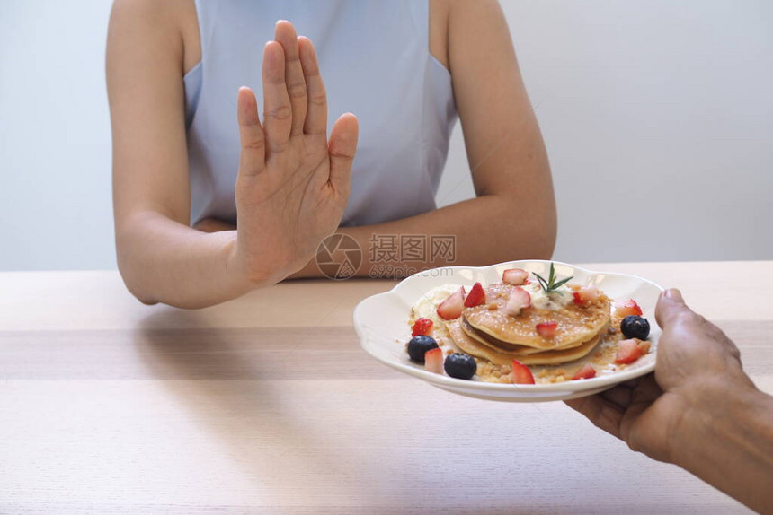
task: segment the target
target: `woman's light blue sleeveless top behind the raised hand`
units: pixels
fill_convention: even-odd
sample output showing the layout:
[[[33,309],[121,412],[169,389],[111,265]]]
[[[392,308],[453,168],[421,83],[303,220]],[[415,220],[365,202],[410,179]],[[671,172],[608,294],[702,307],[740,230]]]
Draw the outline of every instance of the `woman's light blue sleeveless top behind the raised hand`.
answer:
[[[277,20],[315,45],[328,131],[344,112],[360,118],[342,224],[435,208],[457,112],[450,74],[429,51],[429,0],[196,0],[196,9],[201,62],[184,78],[191,222],[235,222],[236,92],[250,86],[262,106],[262,49]]]

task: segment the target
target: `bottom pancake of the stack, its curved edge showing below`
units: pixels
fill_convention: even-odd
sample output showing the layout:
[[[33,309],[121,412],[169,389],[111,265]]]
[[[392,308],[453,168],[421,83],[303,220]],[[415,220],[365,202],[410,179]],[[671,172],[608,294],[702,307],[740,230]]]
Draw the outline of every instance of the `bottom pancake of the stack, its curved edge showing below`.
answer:
[[[557,351],[545,351],[535,354],[503,354],[495,351],[488,345],[483,345],[475,339],[467,336],[462,330],[459,320],[449,322],[449,335],[454,344],[458,346],[466,354],[470,354],[477,358],[483,358],[498,365],[511,365],[513,359],[517,359],[519,362],[529,365],[557,365],[565,362],[573,362],[579,360],[583,356],[590,354],[593,348],[599,343],[601,336],[597,334],[590,340],[582,343],[571,349],[557,350]]]

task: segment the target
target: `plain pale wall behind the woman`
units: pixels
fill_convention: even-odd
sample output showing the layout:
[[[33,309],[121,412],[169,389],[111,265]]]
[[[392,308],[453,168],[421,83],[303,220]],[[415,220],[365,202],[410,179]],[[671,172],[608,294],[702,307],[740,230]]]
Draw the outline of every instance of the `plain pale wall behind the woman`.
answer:
[[[771,259],[773,7],[502,0],[565,261]],[[0,270],[115,266],[110,2],[0,0]],[[440,205],[472,196],[455,131]]]

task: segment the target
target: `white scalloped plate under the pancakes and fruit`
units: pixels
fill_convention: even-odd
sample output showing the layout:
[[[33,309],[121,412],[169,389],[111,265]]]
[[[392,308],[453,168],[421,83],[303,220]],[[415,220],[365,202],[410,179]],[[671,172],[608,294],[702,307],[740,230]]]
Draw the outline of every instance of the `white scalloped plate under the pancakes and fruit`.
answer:
[[[565,400],[599,393],[616,384],[651,372],[655,368],[655,351],[661,330],[655,323],[655,303],[662,287],[635,275],[591,272],[580,266],[558,261],[555,274],[559,278],[573,275],[572,284],[594,284],[616,301],[634,299],[641,306],[643,317],[650,321],[651,351],[623,371],[599,375],[590,380],[572,380],[553,384],[513,385],[486,383],[480,380],[458,380],[424,370],[411,362],[405,353],[405,343],[411,339],[408,318],[413,304],[436,286],[480,282],[484,285],[502,281],[502,271],[523,268],[530,273],[548,274],[550,261],[511,261],[492,266],[448,266],[433,268],[405,278],[389,292],[378,293],[361,301],[354,309],[354,329],[362,348],[387,366],[410,374],[432,385],[468,397],[510,402]]]

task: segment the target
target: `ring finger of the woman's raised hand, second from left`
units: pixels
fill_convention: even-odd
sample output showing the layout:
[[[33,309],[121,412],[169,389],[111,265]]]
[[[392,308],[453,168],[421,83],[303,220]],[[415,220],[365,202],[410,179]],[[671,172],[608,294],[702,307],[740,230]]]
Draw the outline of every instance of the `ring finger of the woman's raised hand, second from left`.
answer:
[[[263,124],[270,153],[287,147],[292,127],[292,107],[285,83],[285,54],[280,43],[269,41],[263,49]]]

